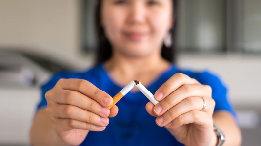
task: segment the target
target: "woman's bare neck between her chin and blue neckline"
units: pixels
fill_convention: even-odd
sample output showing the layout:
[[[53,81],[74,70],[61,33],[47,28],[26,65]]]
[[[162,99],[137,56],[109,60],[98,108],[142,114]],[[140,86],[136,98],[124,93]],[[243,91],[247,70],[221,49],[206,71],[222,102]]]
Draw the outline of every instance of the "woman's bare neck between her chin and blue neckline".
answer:
[[[105,63],[105,67],[118,84],[125,85],[132,79],[136,79],[143,85],[147,85],[166,70],[169,64],[160,54],[126,57],[114,53],[112,58]]]

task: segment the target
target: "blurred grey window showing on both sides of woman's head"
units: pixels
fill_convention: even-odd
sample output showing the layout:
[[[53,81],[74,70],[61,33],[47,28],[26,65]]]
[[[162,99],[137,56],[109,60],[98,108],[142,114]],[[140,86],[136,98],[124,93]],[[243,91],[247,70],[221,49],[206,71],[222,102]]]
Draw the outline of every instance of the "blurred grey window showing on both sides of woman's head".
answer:
[[[83,3],[83,50],[95,50],[97,0]],[[178,0],[177,49],[261,54],[261,0]]]

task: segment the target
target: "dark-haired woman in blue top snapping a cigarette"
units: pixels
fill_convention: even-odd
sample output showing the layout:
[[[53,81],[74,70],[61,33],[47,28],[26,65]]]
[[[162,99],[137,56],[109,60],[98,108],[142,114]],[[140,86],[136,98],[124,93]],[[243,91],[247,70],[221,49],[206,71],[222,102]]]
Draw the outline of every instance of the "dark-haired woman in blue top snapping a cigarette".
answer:
[[[171,63],[174,39],[167,36],[175,28],[175,7],[176,0],[99,0],[98,65],[83,73],[57,73],[42,86],[32,144],[220,146],[224,133],[223,146],[240,145],[220,80]],[[111,96],[133,79],[159,103],[154,106],[133,89],[109,110]],[[222,133],[213,130],[213,121]]]

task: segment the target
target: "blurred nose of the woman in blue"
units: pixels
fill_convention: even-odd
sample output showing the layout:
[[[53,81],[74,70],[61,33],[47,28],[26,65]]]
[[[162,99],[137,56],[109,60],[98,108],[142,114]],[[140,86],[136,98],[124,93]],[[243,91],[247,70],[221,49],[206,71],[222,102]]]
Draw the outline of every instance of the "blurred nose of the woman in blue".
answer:
[[[129,15],[127,17],[127,22],[130,25],[142,24],[146,20],[146,9],[141,3],[142,0],[137,0],[133,2],[129,7]]]

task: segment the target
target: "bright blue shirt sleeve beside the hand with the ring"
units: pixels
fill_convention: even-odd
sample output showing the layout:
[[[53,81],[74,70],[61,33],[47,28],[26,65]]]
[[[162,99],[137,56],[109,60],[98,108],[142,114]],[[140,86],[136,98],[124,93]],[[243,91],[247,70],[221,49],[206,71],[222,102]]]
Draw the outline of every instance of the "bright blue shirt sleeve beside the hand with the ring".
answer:
[[[216,102],[214,111],[226,110],[236,117],[232,104],[227,97],[227,88],[217,75],[203,72],[200,74],[198,81],[201,84],[209,85],[212,88],[212,98]]]

